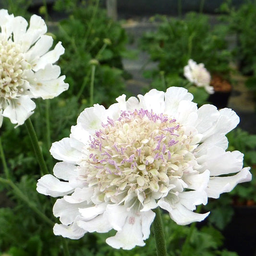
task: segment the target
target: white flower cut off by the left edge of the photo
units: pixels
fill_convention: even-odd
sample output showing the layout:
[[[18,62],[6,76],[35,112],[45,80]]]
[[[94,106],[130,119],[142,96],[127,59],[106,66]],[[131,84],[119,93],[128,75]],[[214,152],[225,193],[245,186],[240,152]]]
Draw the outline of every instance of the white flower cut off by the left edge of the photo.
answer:
[[[2,118],[23,124],[36,107],[31,98],[54,98],[68,89],[61,69],[53,65],[64,48],[45,35],[43,19],[32,15],[26,20],[0,10],[0,126]]]

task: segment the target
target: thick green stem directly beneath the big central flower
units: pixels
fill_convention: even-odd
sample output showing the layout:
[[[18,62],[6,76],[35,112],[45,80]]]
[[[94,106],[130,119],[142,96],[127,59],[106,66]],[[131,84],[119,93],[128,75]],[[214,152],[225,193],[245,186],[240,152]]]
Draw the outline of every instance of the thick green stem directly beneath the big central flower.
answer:
[[[154,212],[156,213],[156,217],[153,222],[153,230],[157,247],[157,256],[167,256],[161,210],[157,207],[154,209]]]

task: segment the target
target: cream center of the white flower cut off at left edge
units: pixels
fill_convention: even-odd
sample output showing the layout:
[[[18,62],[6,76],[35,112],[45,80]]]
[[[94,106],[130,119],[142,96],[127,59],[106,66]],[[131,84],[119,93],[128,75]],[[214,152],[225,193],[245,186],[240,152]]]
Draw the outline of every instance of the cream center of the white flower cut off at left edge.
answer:
[[[16,98],[23,92],[24,64],[18,45],[12,40],[0,40],[0,98]]]

